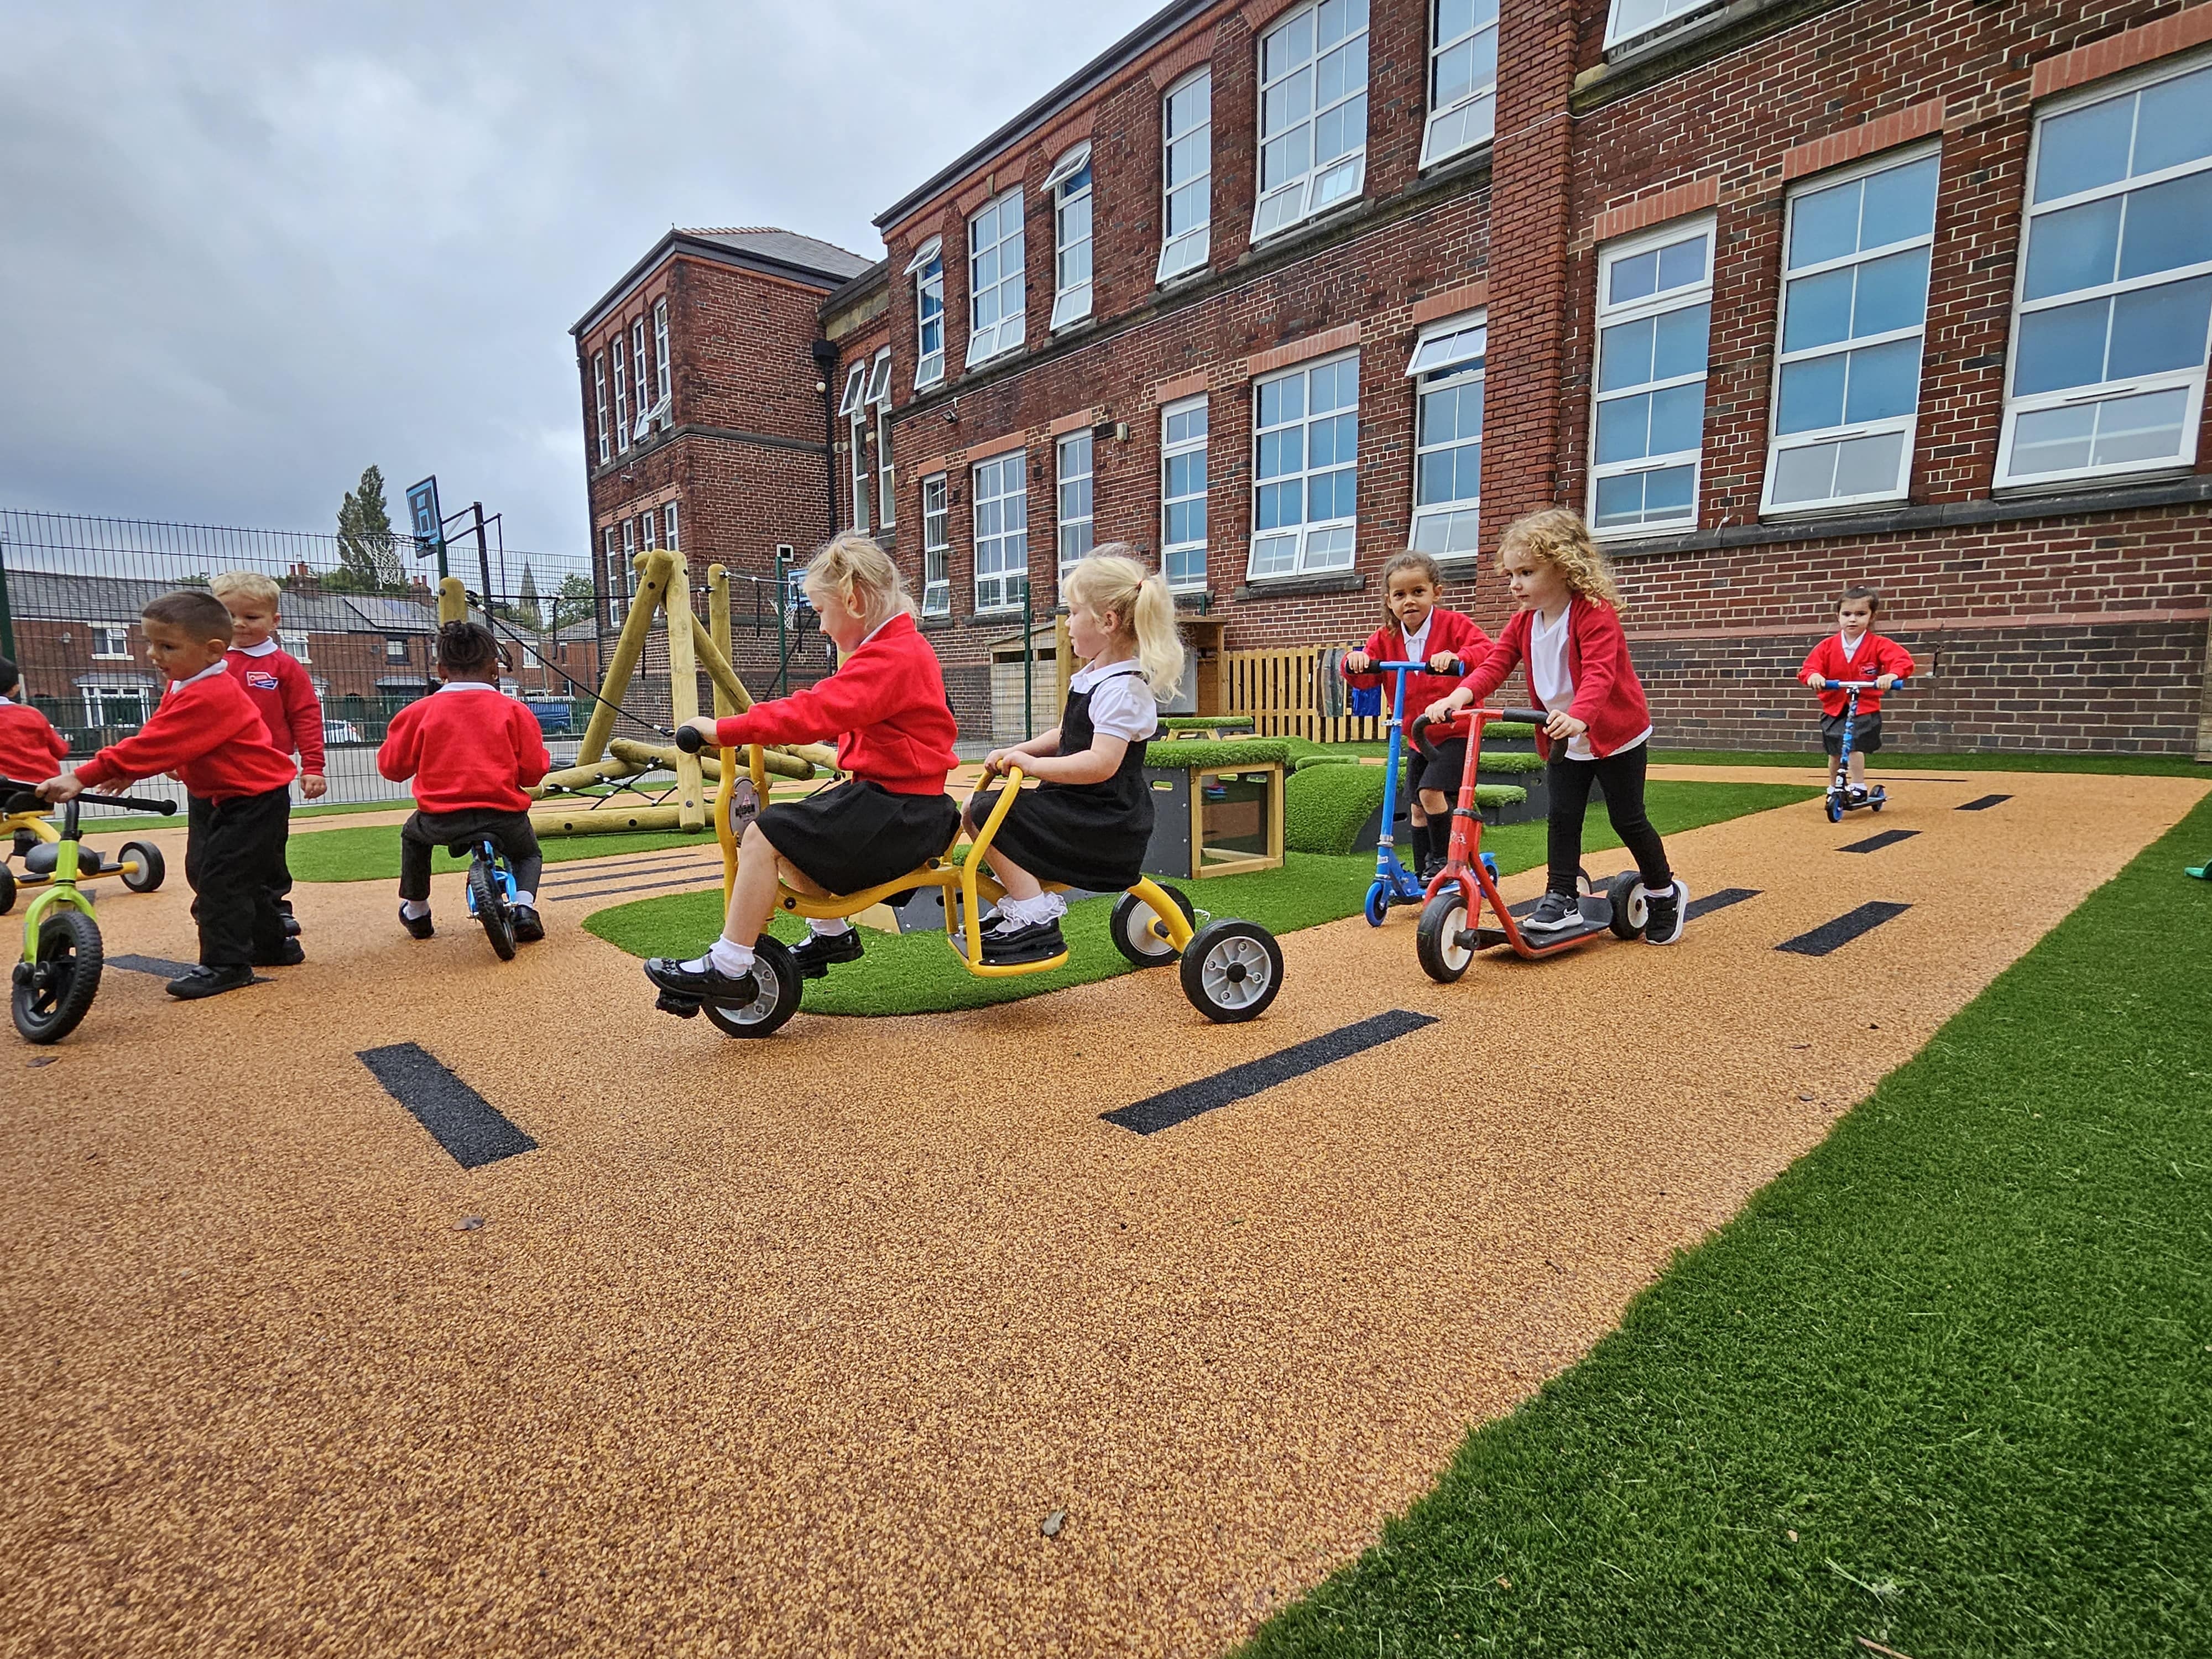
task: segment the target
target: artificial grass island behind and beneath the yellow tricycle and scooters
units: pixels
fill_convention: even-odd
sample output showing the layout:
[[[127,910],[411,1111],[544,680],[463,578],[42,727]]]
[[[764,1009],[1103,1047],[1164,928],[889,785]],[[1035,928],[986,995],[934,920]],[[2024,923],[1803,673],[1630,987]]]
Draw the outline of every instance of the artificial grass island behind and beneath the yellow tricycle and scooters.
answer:
[[[1323,768],[1323,772],[1336,770],[1343,768]],[[1809,801],[1818,794],[1818,790],[1790,783],[1652,783],[1646,790],[1646,807],[1661,834],[1681,834],[1723,818],[1741,818],[1747,812]],[[1621,845],[1606,823],[1604,805],[1593,807],[1593,816],[1584,823],[1588,854]],[[1515,823],[1484,830],[1482,847],[1498,858],[1500,874],[1511,876],[1544,860],[1544,825]],[[1606,865],[1597,869],[1610,874]],[[1276,933],[1290,933],[1356,916],[1374,872],[1371,854],[1292,852],[1283,869],[1172,885],[1181,887],[1201,911],[1243,916]],[[664,894],[595,911],[584,920],[584,927],[630,956],[695,956],[721,931],[721,907],[719,889]],[[801,1006],[810,1013],[849,1015],[949,1013],[1130,973],[1130,964],[1106,933],[1113,907],[1115,898],[1086,898],[1068,907],[1062,922],[1068,938],[1068,964],[1051,973],[1022,973],[1006,980],[971,975],[953,958],[942,933],[867,931],[867,956],[834,969],[825,980],[807,980]],[[781,940],[796,940],[805,925],[779,916],[770,931]],[[1413,949],[1411,927],[1407,927],[1407,949]]]

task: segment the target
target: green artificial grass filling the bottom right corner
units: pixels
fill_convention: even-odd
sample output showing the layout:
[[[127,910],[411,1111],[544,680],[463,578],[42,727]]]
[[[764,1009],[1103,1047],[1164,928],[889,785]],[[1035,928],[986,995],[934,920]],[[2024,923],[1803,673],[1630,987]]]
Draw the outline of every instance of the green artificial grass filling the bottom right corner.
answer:
[[[2212,801],[1245,1652],[2205,1652],[2208,845]]]

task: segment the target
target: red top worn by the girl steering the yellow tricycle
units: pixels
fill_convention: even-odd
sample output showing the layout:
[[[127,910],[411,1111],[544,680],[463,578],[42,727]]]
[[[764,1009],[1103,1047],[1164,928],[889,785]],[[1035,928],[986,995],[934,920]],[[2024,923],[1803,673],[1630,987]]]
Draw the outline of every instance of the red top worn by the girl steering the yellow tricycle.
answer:
[[[737,748],[834,737],[838,768],[856,779],[891,794],[945,794],[958,732],[938,653],[914,630],[914,617],[898,613],[830,679],[732,714],[714,728],[714,741]]]

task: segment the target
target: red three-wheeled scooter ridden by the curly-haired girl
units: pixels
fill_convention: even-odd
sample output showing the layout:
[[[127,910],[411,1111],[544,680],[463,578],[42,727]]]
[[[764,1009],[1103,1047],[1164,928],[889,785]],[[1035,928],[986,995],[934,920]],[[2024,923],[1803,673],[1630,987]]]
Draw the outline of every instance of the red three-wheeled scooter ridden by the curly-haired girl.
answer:
[[[1427,714],[1411,726],[1413,748],[1425,759],[1436,759],[1436,739],[1467,737],[1467,770],[1460,772],[1460,799],[1451,807],[1451,849],[1444,867],[1429,883],[1429,898],[1420,911],[1420,929],[1413,936],[1420,953],[1420,969],[1438,984],[1451,984],[1475,960],[1475,951],[1498,945],[1513,947],[1515,956],[1531,962],[1544,956],[1559,956],[1577,945],[1610,933],[1632,940],[1644,936],[1644,885],[1635,869],[1606,883],[1606,891],[1593,891],[1590,878],[1579,878],[1577,905],[1582,925],[1531,938],[1513,920],[1506,900],[1498,894],[1498,876],[1491,860],[1482,856],[1482,812],[1475,807],[1475,776],[1482,768],[1482,728],[1491,721],[1528,721],[1544,726],[1544,710],[1537,708],[1471,708],[1451,721],[1431,721]],[[1482,907],[1491,907],[1495,927],[1482,927]]]

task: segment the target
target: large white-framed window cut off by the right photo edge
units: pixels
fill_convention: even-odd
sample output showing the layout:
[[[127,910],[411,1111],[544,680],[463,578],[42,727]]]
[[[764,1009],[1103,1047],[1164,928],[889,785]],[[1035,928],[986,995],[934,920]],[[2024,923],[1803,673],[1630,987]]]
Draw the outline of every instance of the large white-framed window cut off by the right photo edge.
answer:
[[[2188,467],[2212,330],[2212,62],[2035,119],[1997,487]]]

